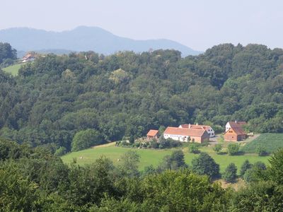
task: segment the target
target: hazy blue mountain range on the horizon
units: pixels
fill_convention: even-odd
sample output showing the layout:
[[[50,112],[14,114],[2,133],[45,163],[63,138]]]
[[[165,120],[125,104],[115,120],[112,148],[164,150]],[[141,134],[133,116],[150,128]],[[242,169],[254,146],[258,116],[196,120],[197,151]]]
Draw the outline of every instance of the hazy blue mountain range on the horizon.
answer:
[[[0,30],[0,42],[10,43],[18,52],[37,51],[65,54],[71,51],[92,50],[101,54],[112,54],[124,50],[146,52],[149,49],[176,49],[182,52],[183,56],[202,53],[172,40],[132,40],[113,35],[102,28],[85,26],[63,32],[9,28]]]

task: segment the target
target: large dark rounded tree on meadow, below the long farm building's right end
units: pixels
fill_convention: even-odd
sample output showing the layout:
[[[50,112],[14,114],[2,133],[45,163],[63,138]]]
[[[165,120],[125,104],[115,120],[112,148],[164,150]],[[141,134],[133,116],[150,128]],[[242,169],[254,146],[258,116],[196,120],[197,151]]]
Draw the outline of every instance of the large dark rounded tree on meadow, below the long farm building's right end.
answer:
[[[200,153],[197,158],[192,159],[192,170],[199,175],[219,177],[219,164],[207,153]]]

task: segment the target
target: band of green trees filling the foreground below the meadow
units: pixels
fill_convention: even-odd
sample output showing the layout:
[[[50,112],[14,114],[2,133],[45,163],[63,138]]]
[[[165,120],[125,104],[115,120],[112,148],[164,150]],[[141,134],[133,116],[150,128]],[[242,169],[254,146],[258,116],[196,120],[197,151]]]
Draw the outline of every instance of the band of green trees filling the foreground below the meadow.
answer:
[[[139,172],[139,157],[126,153],[81,167],[67,166],[46,148],[0,141],[1,211],[280,211],[283,150],[238,192],[212,183],[185,165],[180,154]],[[197,162],[194,162],[197,163]],[[200,165],[200,164],[199,164]]]

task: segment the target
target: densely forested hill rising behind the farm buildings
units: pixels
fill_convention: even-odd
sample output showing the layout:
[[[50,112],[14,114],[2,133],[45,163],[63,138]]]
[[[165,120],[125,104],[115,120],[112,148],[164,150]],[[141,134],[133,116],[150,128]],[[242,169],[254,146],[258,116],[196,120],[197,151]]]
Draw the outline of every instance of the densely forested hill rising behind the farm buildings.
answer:
[[[16,78],[0,72],[0,134],[35,146],[70,149],[85,129],[117,141],[160,126],[233,119],[250,131],[283,132],[282,104],[283,50],[263,45],[218,45],[185,58],[173,50],[50,54]]]

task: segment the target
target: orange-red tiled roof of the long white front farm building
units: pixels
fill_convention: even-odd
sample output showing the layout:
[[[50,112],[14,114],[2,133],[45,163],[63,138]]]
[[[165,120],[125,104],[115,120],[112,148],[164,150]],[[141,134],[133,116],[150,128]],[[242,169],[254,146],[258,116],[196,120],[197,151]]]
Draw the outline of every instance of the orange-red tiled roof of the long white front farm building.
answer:
[[[205,129],[188,129],[168,126],[163,134],[202,137],[205,133],[207,133]]]

